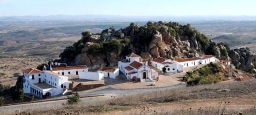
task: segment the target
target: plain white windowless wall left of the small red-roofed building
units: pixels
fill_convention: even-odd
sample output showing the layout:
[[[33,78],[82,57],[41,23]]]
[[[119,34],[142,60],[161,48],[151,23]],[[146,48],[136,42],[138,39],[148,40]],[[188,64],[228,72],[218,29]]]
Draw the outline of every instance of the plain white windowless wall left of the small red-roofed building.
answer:
[[[102,80],[104,77],[104,74],[97,73],[97,72],[84,72],[80,74],[80,79],[86,79],[86,80]]]

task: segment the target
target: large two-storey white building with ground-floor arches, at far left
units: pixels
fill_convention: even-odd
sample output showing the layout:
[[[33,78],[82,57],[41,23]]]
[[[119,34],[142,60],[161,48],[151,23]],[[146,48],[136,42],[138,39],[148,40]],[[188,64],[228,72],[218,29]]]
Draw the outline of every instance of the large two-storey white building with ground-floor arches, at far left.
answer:
[[[24,70],[23,90],[37,97],[56,96],[69,88],[68,77],[51,71]]]

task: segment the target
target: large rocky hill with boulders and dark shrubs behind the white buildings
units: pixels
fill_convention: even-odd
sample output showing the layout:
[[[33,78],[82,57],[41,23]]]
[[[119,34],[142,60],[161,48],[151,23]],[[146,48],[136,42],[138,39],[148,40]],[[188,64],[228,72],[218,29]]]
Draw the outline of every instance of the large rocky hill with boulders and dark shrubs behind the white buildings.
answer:
[[[57,61],[97,68],[117,65],[131,52],[147,61],[156,57],[174,60],[205,54],[215,55],[219,60],[230,60],[229,50],[226,44],[212,42],[189,24],[160,21],[143,26],[130,23],[119,30],[110,27],[99,34],[85,31],[82,39],[66,47]]]

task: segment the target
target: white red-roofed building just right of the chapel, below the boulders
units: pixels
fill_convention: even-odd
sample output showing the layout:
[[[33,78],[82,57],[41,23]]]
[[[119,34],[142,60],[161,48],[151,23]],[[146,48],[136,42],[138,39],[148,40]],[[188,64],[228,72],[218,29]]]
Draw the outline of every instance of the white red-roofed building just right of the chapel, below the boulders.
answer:
[[[165,68],[165,72],[167,73],[183,72],[183,65],[162,57],[155,58],[152,61],[152,66],[159,70],[163,70]]]

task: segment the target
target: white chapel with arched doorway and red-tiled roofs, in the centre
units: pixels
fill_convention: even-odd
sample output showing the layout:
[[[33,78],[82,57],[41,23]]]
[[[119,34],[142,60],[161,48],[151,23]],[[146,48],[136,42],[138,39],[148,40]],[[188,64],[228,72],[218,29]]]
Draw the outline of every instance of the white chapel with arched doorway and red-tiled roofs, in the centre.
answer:
[[[126,56],[126,59],[118,62],[119,70],[125,74],[127,80],[136,78],[139,81],[152,80],[158,77],[158,73],[148,66],[147,61],[134,53]]]

